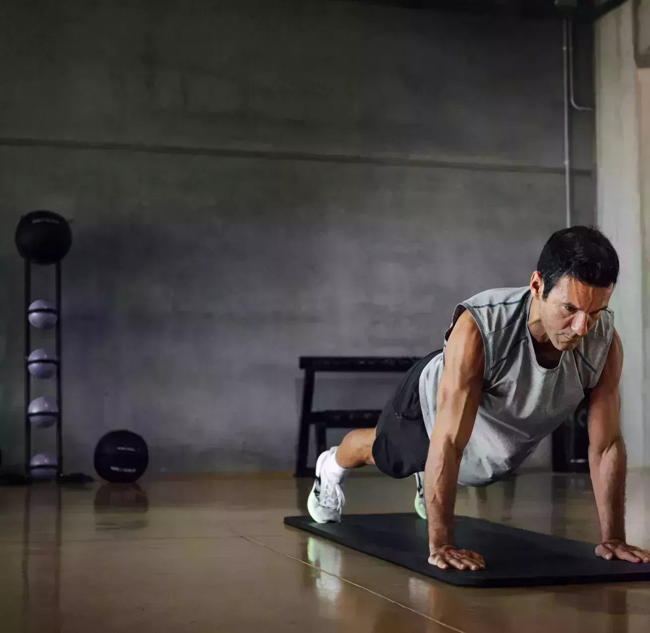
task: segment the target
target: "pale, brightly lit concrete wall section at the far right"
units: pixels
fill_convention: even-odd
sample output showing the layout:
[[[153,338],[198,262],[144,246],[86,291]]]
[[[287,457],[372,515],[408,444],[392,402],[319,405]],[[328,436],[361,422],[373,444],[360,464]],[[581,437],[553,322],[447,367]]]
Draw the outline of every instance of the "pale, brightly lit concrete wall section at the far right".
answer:
[[[625,362],[623,435],[632,466],[650,465],[650,90],[634,62],[631,2],[595,26],[597,217],[621,259],[612,297]]]

